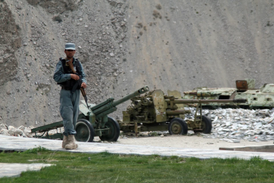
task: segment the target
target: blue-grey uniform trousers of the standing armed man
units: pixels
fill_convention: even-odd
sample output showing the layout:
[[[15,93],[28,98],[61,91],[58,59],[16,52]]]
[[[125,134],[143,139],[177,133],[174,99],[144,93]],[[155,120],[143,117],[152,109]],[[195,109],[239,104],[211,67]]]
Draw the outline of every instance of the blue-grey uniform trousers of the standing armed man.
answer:
[[[74,93],[71,90],[61,89],[60,92],[60,114],[63,118],[65,136],[75,135],[75,126],[79,116],[80,89]]]

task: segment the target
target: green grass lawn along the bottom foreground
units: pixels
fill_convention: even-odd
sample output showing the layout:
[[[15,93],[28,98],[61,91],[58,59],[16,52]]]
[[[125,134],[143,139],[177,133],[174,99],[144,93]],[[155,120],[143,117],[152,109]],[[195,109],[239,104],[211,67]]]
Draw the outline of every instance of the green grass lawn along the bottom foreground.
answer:
[[[88,160],[88,157],[91,160]],[[102,152],[82,154],[53,152],[35,148],[26,152],[0,153],[2,163],[50,163],[56,166],[27,171],[18,178],[0,182],[274,182],[274,163],[253,157],[251,160],[128,156]]]

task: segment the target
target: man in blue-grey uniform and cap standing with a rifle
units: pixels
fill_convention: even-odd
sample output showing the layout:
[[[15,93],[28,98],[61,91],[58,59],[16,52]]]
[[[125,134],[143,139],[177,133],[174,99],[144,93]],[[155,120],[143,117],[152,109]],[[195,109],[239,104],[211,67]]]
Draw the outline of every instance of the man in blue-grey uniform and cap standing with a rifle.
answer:
[[[66,58],[59,58],[56,65],[53,79],[61,86],[60,92],[60,114],[64,124],[64,139],[62,148],[76,149],[78,146],[75,143],[76,134],[75,126],[79,115],[79,98],[80,87],[86,88],[86,75],[84,69],[78,59],[74,58],[75,44],[67,43],[65,45]],[[73,74],[69,68],[67,61],[72,60],[76,74]],[[77,80],[80,79],[81,86]]]

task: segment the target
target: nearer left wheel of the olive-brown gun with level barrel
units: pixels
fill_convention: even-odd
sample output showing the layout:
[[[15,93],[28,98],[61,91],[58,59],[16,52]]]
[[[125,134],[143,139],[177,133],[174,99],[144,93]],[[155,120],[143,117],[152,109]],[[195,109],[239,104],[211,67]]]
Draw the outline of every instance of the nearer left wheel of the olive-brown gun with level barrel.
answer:
[[[188,133],[188,125],[182,118],[174,118],[168,124],[170,135],[185,135]]]

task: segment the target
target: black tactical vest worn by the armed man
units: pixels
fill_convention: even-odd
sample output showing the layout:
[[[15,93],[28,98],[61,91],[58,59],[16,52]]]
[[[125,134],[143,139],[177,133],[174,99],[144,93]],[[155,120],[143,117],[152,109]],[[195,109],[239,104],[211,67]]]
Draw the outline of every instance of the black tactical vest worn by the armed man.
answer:
[[[63,74],[73,74],[72,70],[69,68],[68,65],[66,65],[66,59],[63,59],[62,57],[59,58],[59,60],[62,62],[62,66],[63,66]],[[76,75],[78,75],[80,77],[80,83],[82,83],[82,76],[80,73],[80,62],[78,59],[76,59],[74,66],[74,70],[76,71]],[[63,87],[65,87],[67,90],[71,90],[73,87],[74,89],[80,89],[80,86],[78,85],[78,82],[74,79],[68,79],[67,81],[61,82],[61,83],[57,83],[58,85],[61,85]],[[75,88],[75,85],[78,85],[78,87]]]

